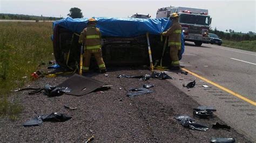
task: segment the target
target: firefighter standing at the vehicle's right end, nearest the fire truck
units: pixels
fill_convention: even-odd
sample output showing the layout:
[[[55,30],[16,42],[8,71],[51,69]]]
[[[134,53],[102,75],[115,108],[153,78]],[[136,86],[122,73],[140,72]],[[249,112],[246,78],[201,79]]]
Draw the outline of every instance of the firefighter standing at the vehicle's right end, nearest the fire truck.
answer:
[[[178,51],[181,49],[181,25],[179,24],[179,15],[178,13],[172,13],[170,15],[172,20],[172,26],[162,34],[164,36],[169,36],[168,46],[170,47],[170,57],[171,57],[171,66],[170,70],[179,70],[179,58]]]

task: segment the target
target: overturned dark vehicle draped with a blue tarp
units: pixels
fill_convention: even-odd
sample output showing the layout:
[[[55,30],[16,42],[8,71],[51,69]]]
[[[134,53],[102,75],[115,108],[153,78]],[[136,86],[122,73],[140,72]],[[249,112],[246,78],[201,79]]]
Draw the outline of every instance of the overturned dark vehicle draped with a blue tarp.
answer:
[[[149,50],[146,33],[149,41],[154,66],[159,65],[163,55],[163,65],[170,64],[169,48],[165,37],[161,33],[172,24],[168,18],[140,19],[140,18],[95,18],[102,33],[102,53],[106,67],[110,66],[140,66],[150,65]],[[53,22],[53,51],[56,62],[64,68],[76,69],[79,63],[80,44],[79,34],[87,26],[87,18],[70,17]],[[184,52],[182,42],[179,59]],[[91,58],[91,68],[95,68],[96,60]],[[90,69],[91,69],[90,68]]]

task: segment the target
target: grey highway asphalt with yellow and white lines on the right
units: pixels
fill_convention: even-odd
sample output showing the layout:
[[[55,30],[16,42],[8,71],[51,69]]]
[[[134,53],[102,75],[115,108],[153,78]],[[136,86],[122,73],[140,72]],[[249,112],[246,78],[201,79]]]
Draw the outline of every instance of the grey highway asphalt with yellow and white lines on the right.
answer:
[[[180,62],[184,70],[192,73],[169,72],[179,79],[171,82],[199,104],[214,106],[220,119],[256,141],[256,53],[211,44],[197,47],[186,42]],[[182,87],[182,83],[192,80],[196,80],[196,87]]]

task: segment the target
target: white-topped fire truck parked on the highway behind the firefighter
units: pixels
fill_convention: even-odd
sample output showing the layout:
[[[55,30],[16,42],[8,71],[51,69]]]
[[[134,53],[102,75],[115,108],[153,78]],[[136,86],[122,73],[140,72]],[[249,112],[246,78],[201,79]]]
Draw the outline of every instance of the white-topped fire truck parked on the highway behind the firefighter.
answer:
[[[158,9],[156,18],[170,17],[174,12],[179,14],[185,41],[192,41],[196,46],[210,42],[208,31],[212,18],[208,15],[208,10],[170,6]]]

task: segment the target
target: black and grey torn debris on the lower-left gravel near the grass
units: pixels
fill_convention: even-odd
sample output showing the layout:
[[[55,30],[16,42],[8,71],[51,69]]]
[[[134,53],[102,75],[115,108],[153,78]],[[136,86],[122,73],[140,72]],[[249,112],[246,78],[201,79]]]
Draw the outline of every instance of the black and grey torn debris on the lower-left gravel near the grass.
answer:
[[[38,126],[41,125],[43,123],[43,121],[66,121],[71,119],[71,116],[65,115],[63,113],[50,113],[48,115],[41,115],[41,116],[37,116],[29,121],[26,121],[23,126],[27,127],[27,126]]]

